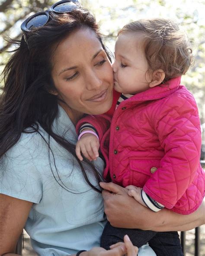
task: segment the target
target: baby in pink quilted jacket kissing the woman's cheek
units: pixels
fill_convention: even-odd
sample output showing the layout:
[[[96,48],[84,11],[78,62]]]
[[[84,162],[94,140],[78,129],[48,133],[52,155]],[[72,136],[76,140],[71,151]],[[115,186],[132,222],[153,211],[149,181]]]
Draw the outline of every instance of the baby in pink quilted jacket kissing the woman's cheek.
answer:
[[[143,19],[125,25],[115,44],[112,108],[77,124],[78,158],[83,159],[82,152],[94,160],[100,148],[107,164],[104,178],[127,188],[155,212],[166,207],[191,214],[204,196],[199,113],[194,97],[180,84],[191,63],[188,40],[172,21]],[[109,223],[101,246],[109,249],[125,234],[135,246],[149,242],[157,256],[183,255],[177,232]]]

